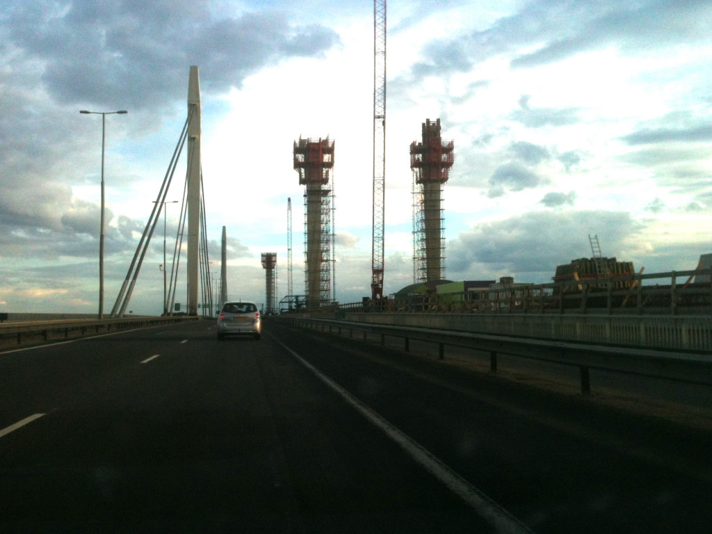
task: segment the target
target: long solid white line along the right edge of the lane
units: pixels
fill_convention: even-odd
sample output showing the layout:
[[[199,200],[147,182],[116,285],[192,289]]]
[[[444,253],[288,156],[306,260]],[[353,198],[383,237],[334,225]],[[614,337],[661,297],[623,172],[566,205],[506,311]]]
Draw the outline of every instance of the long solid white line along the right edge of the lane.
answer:
[[[478,490],[471,483],[462,478],[458,473],[446,466],[441,460],[437,459],[424,446],[409,438],[397,427],[390,424],[386,419],[374,412],[372,409],[363,404],[359,399],[347,392],[339,384],[334,382],[323,372],[311,365],[296,352],[287,347],[283,342],[270,335],[273,340],[278,342],[285,348],[293,357],[295,357],[304,367],[313,372],[318,379],[327,384],[331,389],[340,394],[348,404],[351,404],[357,412],[360,412],[372,424],[375,424],[379,429],[401,446],[404,451],[409,454],[418,464],[423,466],[426,471],[445,484],[451,491],[465,501],[473,508],[482,518],[501,534],[530,534],[532,531],[523,523],[515,518],[511,513],[499,506],[495,501]]]

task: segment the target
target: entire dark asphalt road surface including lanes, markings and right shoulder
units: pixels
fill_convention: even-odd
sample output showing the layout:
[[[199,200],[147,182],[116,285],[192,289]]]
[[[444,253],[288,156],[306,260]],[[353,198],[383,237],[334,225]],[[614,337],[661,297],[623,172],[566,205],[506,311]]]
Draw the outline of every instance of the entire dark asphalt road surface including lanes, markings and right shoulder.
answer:
[[[266,321],[0,353],[1,532],[709,533],[712,436]]]

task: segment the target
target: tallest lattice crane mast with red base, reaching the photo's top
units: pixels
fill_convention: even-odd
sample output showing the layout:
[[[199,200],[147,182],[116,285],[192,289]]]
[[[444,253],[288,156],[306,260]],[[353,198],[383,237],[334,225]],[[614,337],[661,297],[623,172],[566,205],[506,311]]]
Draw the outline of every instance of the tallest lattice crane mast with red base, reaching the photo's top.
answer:
[[[373,248],[371,298],[383,298],[386,182],[386,0],[373,2]]]

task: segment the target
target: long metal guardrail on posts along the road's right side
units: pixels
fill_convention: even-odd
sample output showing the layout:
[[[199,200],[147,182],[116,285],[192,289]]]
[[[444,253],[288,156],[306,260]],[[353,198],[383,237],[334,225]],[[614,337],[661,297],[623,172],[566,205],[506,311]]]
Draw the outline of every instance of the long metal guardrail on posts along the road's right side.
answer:
[[[439,358],[445,357],[447,345],[466,347],[489,352],[490,368],[497,371],[497,356],[501,354],[553,362],[579,369],[581,393],[590,394],[590,370],[604,370],[626,375],[639,375],[712,386],[712,355],[649,350],[632,347],[614,347],[577,342],[560,342],[523,337],[509,337],[483,333],[455,332],[429,328],[413,328],[372,323],[352,323],[345,320],[303,318],[298,315],[281,315],[280,320],[300,328],[320,328],[342,334],[347,330],[350,337],[354,332],[378,334],[381,343],[384,338],[400,337],[404,340],[404,350],[409,350],[410,340],[433,342],[439,345]]]

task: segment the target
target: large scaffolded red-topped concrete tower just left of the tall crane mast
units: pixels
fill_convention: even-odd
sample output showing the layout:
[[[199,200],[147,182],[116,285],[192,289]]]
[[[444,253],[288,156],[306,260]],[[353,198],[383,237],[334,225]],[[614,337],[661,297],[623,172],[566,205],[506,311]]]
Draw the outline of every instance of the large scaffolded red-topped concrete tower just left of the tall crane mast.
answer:
[[[334,142],[302,139],[294,142],[294,169],[304,186],[304,260],[307,307],[317,308],[330,298],[331,202],[329,179],[334,167]]]

